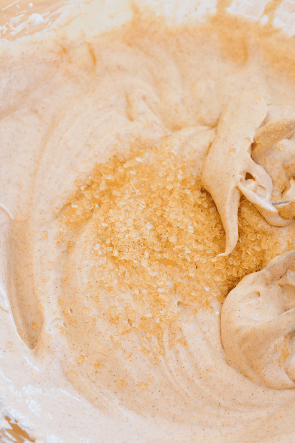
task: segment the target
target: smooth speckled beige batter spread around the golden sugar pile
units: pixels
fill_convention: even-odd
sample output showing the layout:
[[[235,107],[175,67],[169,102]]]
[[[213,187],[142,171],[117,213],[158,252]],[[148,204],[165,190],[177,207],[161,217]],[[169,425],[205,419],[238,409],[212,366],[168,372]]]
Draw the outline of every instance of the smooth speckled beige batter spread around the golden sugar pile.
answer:
[[[294,85],[259,64],[255,41],[246,56],[230,55],[218,23],[209,31],[163,28],[153,35],[148,27],[155,24],[145,20],[138,29],[127,25],[86,40],[75,34],[73,41],[69,24],[2,46],[0,203],[15,221],[1,211],[1,396],[40,441],[291,442],[294,391],[257,386],[227,364],[216,299],[212,310],[188,313],[185,346],[171,347],[164,337],[159,364],[137,352],[131,360],[111,359],[109,373],[86,367],[73,379],[79,348],[60,333],[58,299],[75,295],[82,309],[87,305],[89,226],[68,255],[56,242],[75,180],[139,136],[151,144],[166,137],[175,152],[194,156],[200,177],[220,114],[239,94],[263,97],[268,113],[294,112]],[[282,252],[294,248],[294,226],[279,229]],[[268,251],[265,264],[270,258]],[[97,358],[110,354],[107,324],[99,338],[83,334],[81,328],[81,343]],[[131,335],[126,347],[138,342]],[[147,389],[143,375],[153,380]]]

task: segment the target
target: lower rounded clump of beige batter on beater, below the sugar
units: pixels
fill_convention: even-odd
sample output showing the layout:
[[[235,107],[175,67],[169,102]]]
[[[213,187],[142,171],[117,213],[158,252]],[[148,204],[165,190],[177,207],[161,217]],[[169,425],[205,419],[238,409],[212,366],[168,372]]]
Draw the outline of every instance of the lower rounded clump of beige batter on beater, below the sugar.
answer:
[[[258,385],[295,387],[295,252],[274,258],[230,292],[221,310],[228,363]]]

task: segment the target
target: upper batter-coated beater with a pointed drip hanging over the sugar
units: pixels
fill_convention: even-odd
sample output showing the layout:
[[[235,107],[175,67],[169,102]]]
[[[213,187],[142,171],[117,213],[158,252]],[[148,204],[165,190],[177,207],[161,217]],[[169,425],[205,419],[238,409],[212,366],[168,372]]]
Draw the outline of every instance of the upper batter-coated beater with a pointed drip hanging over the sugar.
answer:
[[[231,253],[238,241],[237,211],[241,193],[270,224],[287,226],[293,223],[291,217],[283,219],[278,206],[272,204],[271,177],[251,158],[251,145],[255,141],[254,158],[266,158],[267,148],[275,146],[276,149],[277,142],[293,135],[295,115],[270,120],[259,127],[266,115],[267,106],[262,97],[247,93],[237,96],[220,116],[216,138],[202,170],[202,184],[212,195],[226,232],[226,250],[221,255]],[[252,178],[246,178],[247,174]],[[287,190],[290,195],[283,193],[281,202],[295,198],[291,187],[292,181]]]

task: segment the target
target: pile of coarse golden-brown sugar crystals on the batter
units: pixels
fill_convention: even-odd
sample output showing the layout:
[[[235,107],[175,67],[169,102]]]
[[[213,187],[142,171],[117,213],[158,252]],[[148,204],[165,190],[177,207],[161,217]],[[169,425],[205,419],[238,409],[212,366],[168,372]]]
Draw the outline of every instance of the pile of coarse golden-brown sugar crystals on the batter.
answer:
[[[224,251],[224,230],[192,170],[192,160],[165,143],[153,148],[139,143],[79,181],[59,219],[59,241],[67,251],[91,221],[85,243],[96,265],[87,288],[89,314],[107,318],[119,335],[138,330],[150,341],[167,330],[172,343],[185,343],[177,302],[192,313],[201,306],[210,309],[213,297],[222,302],[246,274],[263,267],[268,247],[272,256],[281,253],[279,228],[267,225],[242,198],[236,248],[228,257],[216,257]],[[102,291],[110,295],[109,304],[100,301]],[[132,307],[122,292],[131,297]],[[125,300],[123,309],[117,300]],[[66,309],[63,313],[69,317]]]

